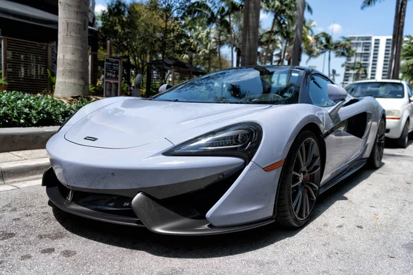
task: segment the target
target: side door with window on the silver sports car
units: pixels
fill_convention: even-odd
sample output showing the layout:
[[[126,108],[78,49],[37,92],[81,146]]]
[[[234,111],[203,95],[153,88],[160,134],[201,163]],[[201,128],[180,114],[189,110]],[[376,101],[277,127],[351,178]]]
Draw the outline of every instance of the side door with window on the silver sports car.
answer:
[[[328,84],[333,84],[331,80],[321,74],[313,74],[310,80],[309,96],[313,104],[324,107],[326,113],[328,109],[335,105],[335,102],[328,98]],[[355,103],[357,104],[357,103]],[[361,108],[354,104],[345,104],[339,110],[335,118],[326,115],[326,166],[321,185],[330,177],[334,177],[339,170],[352,161],[361,150],[363,133],[355,133],[359,125],[359,120],[364,120],[366,124],[368,114],[362,113]],[[361,123],[362,124],[362,123]],[[361,132],[361,131],[359,131]]]

